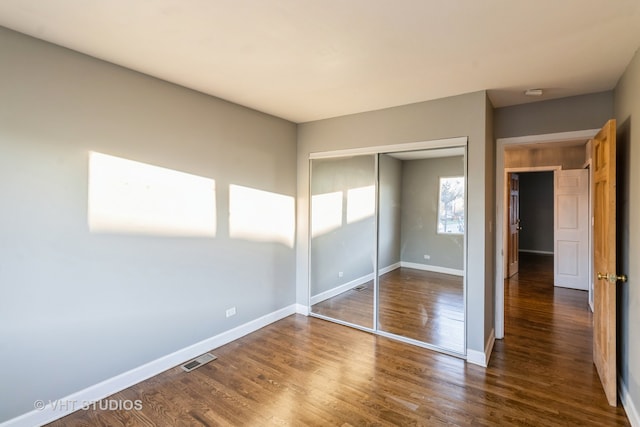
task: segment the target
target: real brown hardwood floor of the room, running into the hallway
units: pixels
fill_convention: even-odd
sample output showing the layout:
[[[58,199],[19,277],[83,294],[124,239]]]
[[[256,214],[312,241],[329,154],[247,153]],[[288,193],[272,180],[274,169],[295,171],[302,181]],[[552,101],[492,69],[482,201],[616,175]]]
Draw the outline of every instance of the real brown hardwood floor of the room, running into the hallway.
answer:
[[[139,411],[80,410],[51,425],[629,425],[591,361],[586,292],[554,289],[548,267],[523,259],[506,283],[506,337],[488,368],[294,315],[193,372],[173,368],[109,398],[140,399]]]

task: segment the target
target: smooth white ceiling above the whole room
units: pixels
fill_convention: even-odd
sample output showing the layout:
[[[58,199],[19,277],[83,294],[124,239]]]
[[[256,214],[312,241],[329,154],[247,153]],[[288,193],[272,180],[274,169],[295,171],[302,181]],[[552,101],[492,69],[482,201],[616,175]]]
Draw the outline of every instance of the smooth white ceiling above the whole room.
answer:
[[[640,0],[0,0],[0,25],[299,123],[610,90]]]

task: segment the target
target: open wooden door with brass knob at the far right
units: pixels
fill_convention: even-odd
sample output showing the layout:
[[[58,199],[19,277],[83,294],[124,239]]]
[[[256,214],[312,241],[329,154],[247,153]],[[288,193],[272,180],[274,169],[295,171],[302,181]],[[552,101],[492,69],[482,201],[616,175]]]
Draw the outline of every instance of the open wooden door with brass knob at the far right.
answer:
[[[593,363],[611,406],[617,405],[616,121],[609,120],[592,141],[593,164]]]

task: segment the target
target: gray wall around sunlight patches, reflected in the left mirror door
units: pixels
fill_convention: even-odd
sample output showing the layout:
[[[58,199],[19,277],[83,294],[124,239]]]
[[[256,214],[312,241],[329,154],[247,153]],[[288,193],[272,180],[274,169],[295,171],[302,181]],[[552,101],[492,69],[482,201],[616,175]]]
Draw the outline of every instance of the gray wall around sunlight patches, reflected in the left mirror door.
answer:
[[[340,192],[342,203],[341,226],[312,238],[311,296],[373,273],[375,199],[371,200],[372,214],[366,218],[349,223],[347,210],[349,190],[375,186],[375,181],[373,155],[312,161],[311,195]]]

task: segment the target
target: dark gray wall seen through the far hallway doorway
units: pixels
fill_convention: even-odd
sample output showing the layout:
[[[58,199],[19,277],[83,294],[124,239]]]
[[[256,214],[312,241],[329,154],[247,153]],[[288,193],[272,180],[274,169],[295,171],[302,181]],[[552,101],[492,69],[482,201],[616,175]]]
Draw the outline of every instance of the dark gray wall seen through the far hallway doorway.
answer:
[[[553,253],[553,172],[520,175],[520,250]]]

